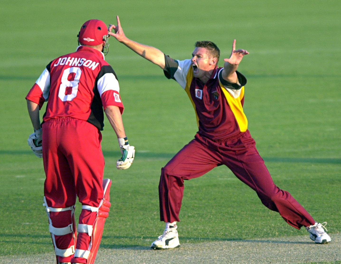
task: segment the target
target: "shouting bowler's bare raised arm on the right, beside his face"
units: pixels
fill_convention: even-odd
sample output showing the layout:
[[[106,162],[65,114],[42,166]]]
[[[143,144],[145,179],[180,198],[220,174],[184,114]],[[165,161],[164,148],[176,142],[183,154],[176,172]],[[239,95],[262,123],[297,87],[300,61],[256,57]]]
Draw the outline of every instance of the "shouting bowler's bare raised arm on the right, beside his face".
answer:
[[[232,44],[232,52],[229,59],[224,59],[224,69],[222,71],[222,77],[224,80],[237,83],[238,77],[236,70],[238,69],[238,65],[241,62],[244,55],[249,54],[247,50],[238,49],[236,50],[236,40],[233,40]]]

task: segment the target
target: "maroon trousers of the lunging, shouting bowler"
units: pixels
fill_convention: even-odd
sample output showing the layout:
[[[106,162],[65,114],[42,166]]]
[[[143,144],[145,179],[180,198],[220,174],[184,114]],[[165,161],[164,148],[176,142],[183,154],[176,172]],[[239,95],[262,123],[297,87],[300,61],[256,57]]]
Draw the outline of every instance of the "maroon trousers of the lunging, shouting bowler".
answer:
[[[160,219],[180,221],[184,180],[204,175],[224,164],[239,180],[250,186],[270,210],[279,212],[291,226],[315,224],[311,215],[291,196],[278,188],[259,155],[249,130],[225,142],[214,142],[199,134],[184,146],[164,168],[159,184]]]

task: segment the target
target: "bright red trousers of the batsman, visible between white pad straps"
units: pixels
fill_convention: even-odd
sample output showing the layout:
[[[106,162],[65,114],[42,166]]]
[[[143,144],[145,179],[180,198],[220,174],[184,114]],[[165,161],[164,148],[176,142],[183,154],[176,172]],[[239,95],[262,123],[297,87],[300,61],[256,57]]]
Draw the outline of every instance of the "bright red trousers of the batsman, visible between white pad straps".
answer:
[[[82,205],[99,207],[103,198],[104,157],[101,149],[102,134],[84,120],[60,117],[47,120],[43,129],[43,162],[46,174],[44,195],[47,206],[71,207],[76,196]],[[92,225],[96,212],[82,210],[79,224]],[[75,223],[70,211],[50,212],[54,227],[63,228]],[[55,235],[55,246],[67,249],[74,245],[73,233]],[[76,248],[87,250],[90,237],[79,233]],[[59,262],[70,262],[71,257],[58,257]]]

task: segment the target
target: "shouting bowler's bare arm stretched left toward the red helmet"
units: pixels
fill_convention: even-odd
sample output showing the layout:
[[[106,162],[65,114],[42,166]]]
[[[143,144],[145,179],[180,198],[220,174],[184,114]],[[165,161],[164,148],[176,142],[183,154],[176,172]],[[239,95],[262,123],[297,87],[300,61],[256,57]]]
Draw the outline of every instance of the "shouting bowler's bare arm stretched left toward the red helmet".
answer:
[[[147,46],[144,44],[137,43],[129,38],[127,38],[121,27],[120,19],[116,16],[117,26],[109,24],[109,35],[115,37],[119,42],[123,43],[125,46],[136,52],[138,55],[144,57],[148,61],[159,65],[160,68],[165,68],[165,57],[162,51],[157,48]],[[115,33],[112,32],[114,29]]]

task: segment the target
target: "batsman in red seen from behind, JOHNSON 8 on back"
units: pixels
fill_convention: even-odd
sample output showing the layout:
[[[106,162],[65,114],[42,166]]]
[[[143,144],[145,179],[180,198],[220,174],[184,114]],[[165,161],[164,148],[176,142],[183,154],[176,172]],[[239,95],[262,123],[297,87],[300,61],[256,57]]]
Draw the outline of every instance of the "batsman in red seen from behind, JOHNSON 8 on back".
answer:
[[[57,264],[92,264],[101,242],[111,185],[111,180],[103,180],[103,109],[122,152],[116,167],[128,169],[134,160],[135,149],[123,127],[117,76],[104,59],[108,37],[103,21],[86,21],[76,51],[47,64],[26,96],[34,128],[28,144],[43,158],[44,205]],[[77,229],[76,197],[82,204]]]

